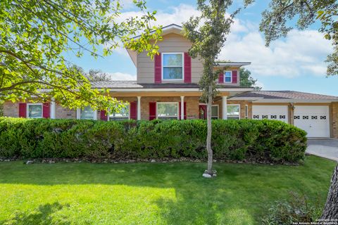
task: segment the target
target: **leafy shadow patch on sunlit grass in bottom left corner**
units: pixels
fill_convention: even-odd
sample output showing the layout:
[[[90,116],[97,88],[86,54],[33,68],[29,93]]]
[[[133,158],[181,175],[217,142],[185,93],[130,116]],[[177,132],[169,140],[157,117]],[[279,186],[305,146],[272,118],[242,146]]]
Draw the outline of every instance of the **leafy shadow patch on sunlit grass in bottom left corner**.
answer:
[[[63,209],[63,207],[68,207],[68,205],[61,205],[60,203],[45,204],[39,205],[37,210],[32,212],[17,212],[15,217],[0,221],[1,225],[49,225],[49,224],[59,224],[59,225],[68,225],[70,221],[67,218],[53,219],[52,214]]]

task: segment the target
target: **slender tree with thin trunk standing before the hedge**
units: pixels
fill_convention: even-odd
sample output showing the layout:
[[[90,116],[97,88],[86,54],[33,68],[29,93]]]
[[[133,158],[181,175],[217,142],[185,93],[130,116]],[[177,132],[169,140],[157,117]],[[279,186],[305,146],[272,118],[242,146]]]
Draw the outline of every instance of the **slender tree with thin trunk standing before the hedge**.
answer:
[[[249,4],[249,0],[246,0]],[[199,57],[203,62],[203,74],[199,81],[202,93],[202,101],[207,105],[206,150],[208,151],[208,167],[205,174],[213,176],[213,150],[211,148],[211,105],[217,94],[215,80],[220,70],[215,71],[217,56],[226,41],[226,35],[230,32],[230,26],[234,23],[234,16],[239,9],[228,17],[225,14],[227,8],[232,5],[231,0],[198,0],[197,9],[201,16],[189,18],[183,24],[184,36],[192,41],[189,55],[192,58]]]

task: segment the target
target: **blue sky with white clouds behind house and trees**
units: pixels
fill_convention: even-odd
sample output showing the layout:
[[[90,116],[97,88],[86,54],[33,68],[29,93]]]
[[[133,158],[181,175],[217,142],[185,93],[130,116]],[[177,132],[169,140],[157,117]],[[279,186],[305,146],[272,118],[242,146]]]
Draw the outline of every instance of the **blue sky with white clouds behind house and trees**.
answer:
[[[218,58],[251,62],[245,68],[251,71],[253,78],[258,79],[258,86],[263,90],[305,91],[338,96],[338,76],[326,77],[325,58],[332,52],[332,45],[318,32],[320,24],[315,23],[307,30],[292,30],[286,38],[273,41],[266,47],[258,27],[267,3],[256,1],[237,15]],[[242,1],[234,0],[230,13],[240,4]],[[139,15],[132,0],[125,0],[123,6],[121,19]],[[146,6],[148,11],[157,11],[157,21],[153,25],[182,25],[190,16],[199,15],[196,0],[148,0]],[[66,57],[84,70],[107,72],[114,80],[136,79],[136,68],[123,48],[115,49],[111,56],[105,58],[94,59],[89,54],[76,58],[71,53]]]

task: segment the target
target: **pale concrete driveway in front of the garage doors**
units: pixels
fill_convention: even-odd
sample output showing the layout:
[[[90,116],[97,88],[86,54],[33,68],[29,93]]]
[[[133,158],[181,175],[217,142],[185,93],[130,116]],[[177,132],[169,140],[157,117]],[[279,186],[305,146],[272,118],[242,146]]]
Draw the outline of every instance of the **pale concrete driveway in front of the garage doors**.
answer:
[[[338,162],[338,139],[308,139],[306,153]]]

